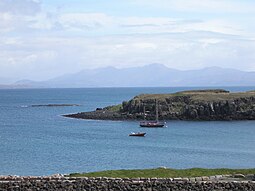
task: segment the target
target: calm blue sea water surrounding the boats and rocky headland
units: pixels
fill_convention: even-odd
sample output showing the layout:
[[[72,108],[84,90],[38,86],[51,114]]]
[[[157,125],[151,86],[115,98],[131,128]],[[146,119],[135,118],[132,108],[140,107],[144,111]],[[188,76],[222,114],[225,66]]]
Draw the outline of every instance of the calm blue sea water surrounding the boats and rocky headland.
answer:
[[[192,88],[0,90],[0,174],[49,175],[160,166],[255,168],[255,121],[167,121],[166,128],[144,129],[137,121],[61,116],[121,103],[140,93],[187,89]],[[225,89],[236,92],[255,87]],[[63,103],[81,106],[31,107]],[[145,131],[147,136],[128,136],[137,131]]]

